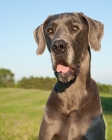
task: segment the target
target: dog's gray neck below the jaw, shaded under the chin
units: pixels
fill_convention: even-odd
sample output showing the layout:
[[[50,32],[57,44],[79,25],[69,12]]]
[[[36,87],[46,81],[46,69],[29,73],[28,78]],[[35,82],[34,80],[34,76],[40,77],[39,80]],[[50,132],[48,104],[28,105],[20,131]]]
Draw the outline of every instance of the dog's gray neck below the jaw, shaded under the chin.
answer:
[[[90,49],[88,49],[87,55],[85,59],[81,63],[80,73],[77,76],[76,79],[71,80],[68,83],[64,83],[61,81],[57,81],[57,84],[55,86],[55,90],[59,93],[66,91],[69,87],[72,87],[75,89],[78,87],[87,87],[89,86],[90,80],[91,80],[91,74],[90,74],[90,61],[91,61],[91,53]]]

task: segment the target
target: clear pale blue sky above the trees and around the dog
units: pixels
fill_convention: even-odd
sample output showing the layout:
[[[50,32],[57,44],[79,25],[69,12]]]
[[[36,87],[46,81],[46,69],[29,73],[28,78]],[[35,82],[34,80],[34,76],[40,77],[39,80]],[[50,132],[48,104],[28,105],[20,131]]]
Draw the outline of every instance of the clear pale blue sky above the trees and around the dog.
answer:
[[[0,0],[0,68],[22,77],[54,77],[47,50],[36,55],[33,31],[49,15],[83,12],[104,24],[101,50],[92,52],[91,76],[112,85],[112,0]]]

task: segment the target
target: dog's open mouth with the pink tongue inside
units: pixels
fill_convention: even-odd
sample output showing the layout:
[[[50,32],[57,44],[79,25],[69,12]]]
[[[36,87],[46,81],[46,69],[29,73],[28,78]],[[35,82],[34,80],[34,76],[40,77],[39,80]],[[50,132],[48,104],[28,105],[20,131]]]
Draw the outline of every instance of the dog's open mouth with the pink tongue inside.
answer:
[[[69,67],[63,60],[59,60],[56,66],[56,72],[70,74],[74,72],[74,69]]]

